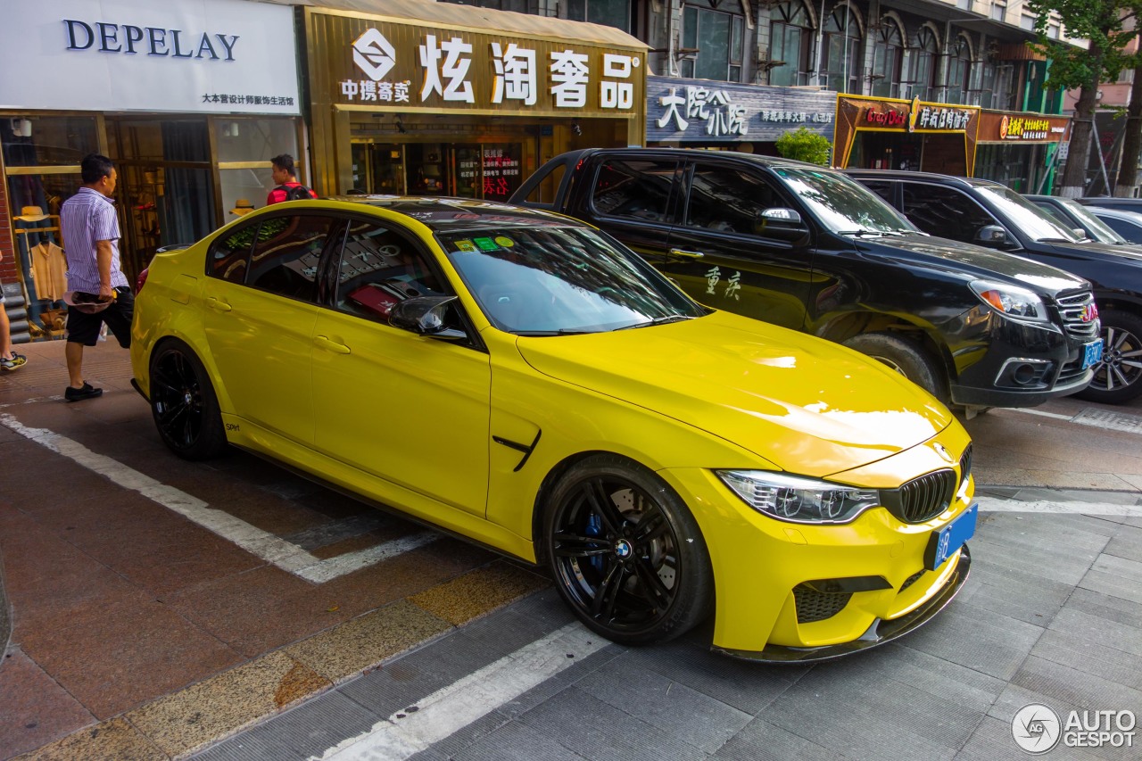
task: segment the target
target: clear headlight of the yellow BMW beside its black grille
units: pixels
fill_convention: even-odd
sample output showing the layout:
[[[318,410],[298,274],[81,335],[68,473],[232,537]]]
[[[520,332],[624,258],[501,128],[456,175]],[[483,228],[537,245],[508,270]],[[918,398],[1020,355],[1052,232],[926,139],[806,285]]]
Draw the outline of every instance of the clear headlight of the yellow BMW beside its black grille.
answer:
[[[880,504],[877,489],[858,489],[769,471],[715,471],[759,513],[795,523],[847,523]]]

